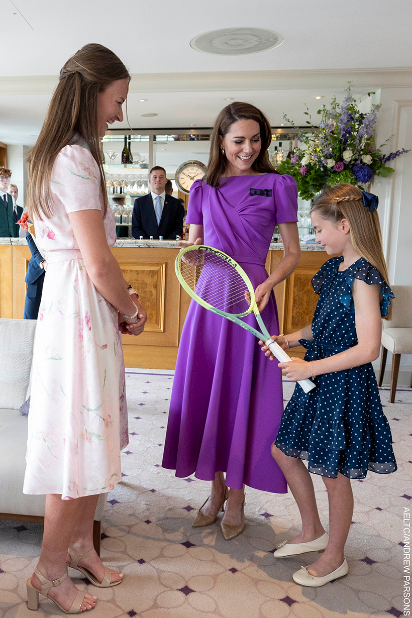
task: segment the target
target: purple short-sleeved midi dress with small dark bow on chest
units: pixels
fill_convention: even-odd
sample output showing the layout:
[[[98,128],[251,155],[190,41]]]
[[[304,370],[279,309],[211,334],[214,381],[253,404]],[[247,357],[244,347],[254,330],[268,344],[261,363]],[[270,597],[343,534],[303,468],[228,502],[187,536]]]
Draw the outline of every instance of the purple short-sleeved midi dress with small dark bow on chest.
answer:
[[[219,188],[191,186],[187,222],[204,226],[204,244],[232,256],[254,289],[266,281],[266,256],[275,224],[297,221],[291,176],[262,174],[225,179]],[[272,292],[262,318],[279,334]],[[243,318],[257,328],[254,315]],[[284,410],[282,374],[261,352],[258,339],[194,300],[183,327],[170,399],[162,466],[176,476],[286,493],[272,459]]]

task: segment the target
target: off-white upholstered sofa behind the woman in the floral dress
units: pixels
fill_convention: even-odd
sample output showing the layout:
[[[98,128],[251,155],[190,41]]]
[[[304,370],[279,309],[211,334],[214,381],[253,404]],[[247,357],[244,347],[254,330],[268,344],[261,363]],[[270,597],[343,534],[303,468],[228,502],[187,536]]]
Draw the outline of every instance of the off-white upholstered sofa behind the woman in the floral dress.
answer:
[[[46,496],[23,494],[27,416],[36,320],[0,319],[0,519],[43,522]],[[99,496],[93,542],[100,555],[101,520],[107,494]]]

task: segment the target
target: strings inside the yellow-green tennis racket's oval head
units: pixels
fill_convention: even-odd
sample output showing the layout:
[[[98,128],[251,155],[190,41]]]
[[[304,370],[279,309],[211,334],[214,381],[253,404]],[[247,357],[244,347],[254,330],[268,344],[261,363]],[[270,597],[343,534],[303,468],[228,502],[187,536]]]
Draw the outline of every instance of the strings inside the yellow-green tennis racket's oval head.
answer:
[[[248,286],[237,269],[221,256],[203,249],[187,252],[180,273],[198,297],[212,307],[232,315],[248,313]]]

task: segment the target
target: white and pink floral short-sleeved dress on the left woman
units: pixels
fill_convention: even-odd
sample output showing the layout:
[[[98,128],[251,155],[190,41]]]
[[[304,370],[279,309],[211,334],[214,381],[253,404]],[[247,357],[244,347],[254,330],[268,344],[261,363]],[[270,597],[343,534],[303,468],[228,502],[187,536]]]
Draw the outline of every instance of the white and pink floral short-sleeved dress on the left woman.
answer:
[[[86,148],[57,155],[54,214],[34,220],[46,258],[28,415],[23,493],[73,499],[110,491],[121,478],[127,404],[117,311],[88,276],[67,213],[101,210],[98,166]],[[104,228],[116,242],[112,211]]]

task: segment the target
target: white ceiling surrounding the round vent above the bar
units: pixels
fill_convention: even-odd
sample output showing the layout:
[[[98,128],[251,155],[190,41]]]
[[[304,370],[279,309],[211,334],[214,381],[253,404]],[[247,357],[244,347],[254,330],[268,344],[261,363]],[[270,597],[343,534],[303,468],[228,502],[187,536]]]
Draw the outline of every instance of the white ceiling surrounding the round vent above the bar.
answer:
[[[211,126],[227,96],[256,104],[273,125],[284,122],[284,112],[304,124],[303,103],[316,112],[333,94],[342,96],[351,70],[359,78],[363,69],[412,67],[411,0],[2,0],[1,11],[8,53],[0,70],[0,141],[6,143],[35,142],[62,64],[90,42],[113,49],[133,74],[128,115],[141,129]],[[190,47],[200,33],[246,25],[276,30],[284,43],[242,56]],[[177,75],[168,81],[170,73]],[[332,73],[328,87],[325,75]],[[355,79],[355,94],[379,87],[379,79],[370,71],[364,82]],[[145,112],[158,116],[140,117]]]

